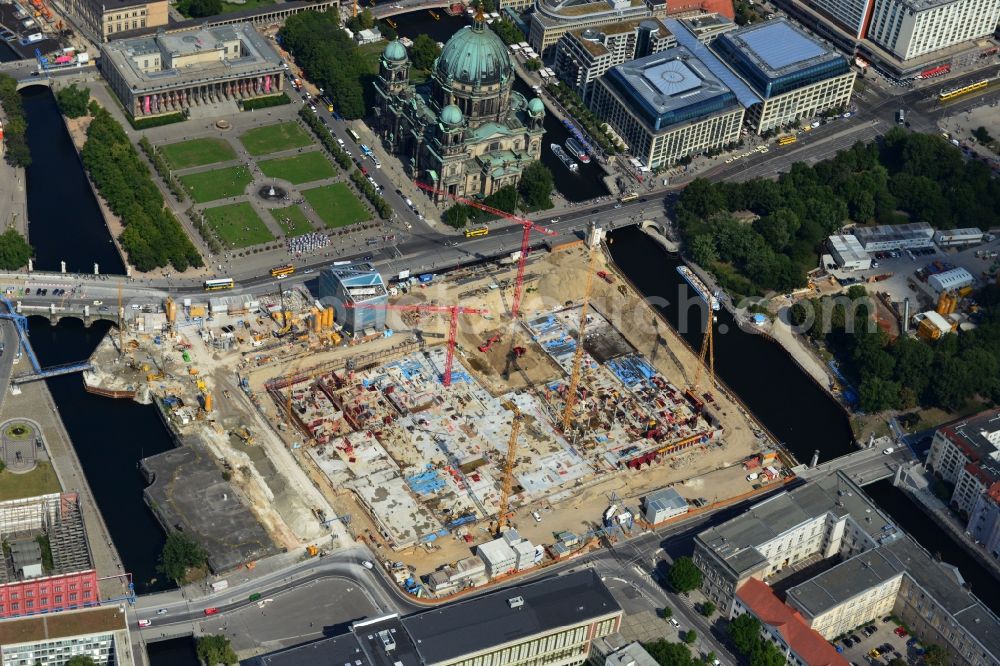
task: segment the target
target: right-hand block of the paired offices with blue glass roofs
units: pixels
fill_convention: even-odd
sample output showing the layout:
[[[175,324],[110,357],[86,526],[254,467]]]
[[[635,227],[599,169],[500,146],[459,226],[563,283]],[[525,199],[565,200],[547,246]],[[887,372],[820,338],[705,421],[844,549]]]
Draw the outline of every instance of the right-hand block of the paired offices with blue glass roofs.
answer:
[[[760,98],[746,117],[758,134],[851,101],[855,73],[847,59],[785,18],[720,35],[711,48]]]

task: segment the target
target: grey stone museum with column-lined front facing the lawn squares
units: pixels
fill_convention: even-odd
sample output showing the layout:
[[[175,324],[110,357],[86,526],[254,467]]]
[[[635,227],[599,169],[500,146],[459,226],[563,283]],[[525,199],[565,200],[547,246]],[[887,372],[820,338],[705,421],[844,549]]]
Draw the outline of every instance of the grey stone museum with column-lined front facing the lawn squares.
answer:
[[[235,105],[285,87],[281,57],[249,23],[108,42],[101,72],[135,118]]]

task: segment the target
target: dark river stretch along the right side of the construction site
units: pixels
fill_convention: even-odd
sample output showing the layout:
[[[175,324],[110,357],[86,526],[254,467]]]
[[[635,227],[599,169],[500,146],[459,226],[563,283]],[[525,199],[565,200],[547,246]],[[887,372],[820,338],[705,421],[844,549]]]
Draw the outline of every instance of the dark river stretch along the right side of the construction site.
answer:
[[[611,256],[689,345],[700,350],[707,306],[677,273],[680,260],[637,229],[611,235]],[[725,310],[716,313],[715,372],[793,453],[808,462],[854,450],[847,414],[779,345],[746,333]]]

